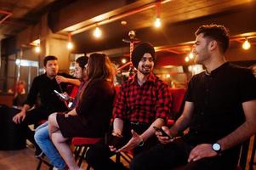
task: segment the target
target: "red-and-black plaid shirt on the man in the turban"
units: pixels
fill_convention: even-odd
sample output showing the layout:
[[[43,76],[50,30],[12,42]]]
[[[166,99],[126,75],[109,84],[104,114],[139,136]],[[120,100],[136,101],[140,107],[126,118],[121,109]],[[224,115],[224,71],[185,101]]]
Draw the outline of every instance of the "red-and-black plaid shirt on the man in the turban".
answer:
[[[151,73],[142,86],[139,86],[136,76],[122,84],[113,115],[129,122],[152,123],[156,118],[166,121],[170,106],[168,85]]]

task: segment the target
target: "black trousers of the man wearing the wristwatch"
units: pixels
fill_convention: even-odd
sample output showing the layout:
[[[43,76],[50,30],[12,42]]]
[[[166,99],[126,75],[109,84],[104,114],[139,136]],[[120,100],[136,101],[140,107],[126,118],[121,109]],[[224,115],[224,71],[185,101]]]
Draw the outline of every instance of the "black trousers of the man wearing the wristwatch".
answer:
[[[203,158],[199,161],[187,163],[192,146],[183,139],[176,139],[170,144],[157,144],[137,156],[130,165],[131,170],[171,170],[184,165],[183,170],[233,170],[236,161],[228,155]]]

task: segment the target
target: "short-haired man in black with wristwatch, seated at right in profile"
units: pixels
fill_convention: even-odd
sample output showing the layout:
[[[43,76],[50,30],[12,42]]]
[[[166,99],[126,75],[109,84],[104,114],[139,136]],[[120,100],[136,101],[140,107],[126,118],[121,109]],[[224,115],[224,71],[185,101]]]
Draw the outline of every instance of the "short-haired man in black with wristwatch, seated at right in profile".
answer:
[[[252,71],[225,60],[229,34],[225,26],[196,31],[195,62],[206,71],[191,78],[185,109],[174,126],[162,127],[177,139],[156,132],[162,144],[134,157],[132,170],[234,170],[243,141],[256,133],[256,79]]]

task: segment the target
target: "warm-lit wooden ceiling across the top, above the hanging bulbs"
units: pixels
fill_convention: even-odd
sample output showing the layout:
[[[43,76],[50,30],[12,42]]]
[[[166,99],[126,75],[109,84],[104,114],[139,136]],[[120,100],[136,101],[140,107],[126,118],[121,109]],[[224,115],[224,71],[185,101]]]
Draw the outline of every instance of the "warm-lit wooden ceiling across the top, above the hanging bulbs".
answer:
[[[162,27],[159,29],[153,27],[157,2],[0,0],[0,39],[18,34],[48,14],[49,27],[54,33],[71,32],[76,47],[74,53],[103,51],[112,57],[128,56],[129,44],[122,39],[128,40],[128,31],[134,30],[138,40],[151,42],[156,47],[157,55],[175,57],[190,51],[198,26],[211,23],[230,29],[234,36],[232,47],[239,46],[245,35],[256,42],[256,0],[160,1]],[[122,20],[127,24],[122,25]],[[96,24],[103,31],[100,39],[92,36]]]

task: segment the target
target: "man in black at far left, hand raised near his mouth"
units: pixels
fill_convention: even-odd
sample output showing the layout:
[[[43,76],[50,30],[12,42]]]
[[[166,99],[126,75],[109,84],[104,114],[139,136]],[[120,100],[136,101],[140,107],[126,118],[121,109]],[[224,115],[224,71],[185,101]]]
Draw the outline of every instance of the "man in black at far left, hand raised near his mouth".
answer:
[[[13,117],[14,123],[21,124],[22,127],[24,127],[26,139],[30,140],[31,143],[35,145],[36,156],[38,156],[42,151],[37,146],[34,139],[34,132],[31,131],[28,125],[37,124],[41,120],[47,120],[48,116],[53,112],[67,111],[65,102],[60,100],[58,96],[54,94],[54,90],[57,90],[60,93],[65,92],[67,83],[61,83],[61,81],[56,80],[55,77],[64,80],[67,80],[65,77],[68,79],[72,78],[67,74],[58,73],[59,65],[55,56],[46,56],[43,59],[43,65],[46,73],[35,77],[25,104],[21,111]],[[80,84],[80,81],[76,79],[73,79],[70,82],[76,85]],[[40,100],[39,105],[36,105],[37,97]],[[36,105],[36,107],[31,109],[34,105]]]

